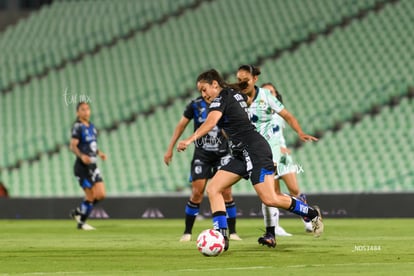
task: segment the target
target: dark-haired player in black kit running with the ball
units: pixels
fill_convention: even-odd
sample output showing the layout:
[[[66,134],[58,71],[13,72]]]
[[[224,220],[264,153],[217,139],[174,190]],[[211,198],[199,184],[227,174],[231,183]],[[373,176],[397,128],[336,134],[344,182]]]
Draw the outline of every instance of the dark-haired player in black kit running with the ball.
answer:
[[[315,235],[319,236],[323,232],[319,208],[308,206],[288,195],[277,195],[275,192],[275,167],[270,146],[250,122],[246,96],[238,92],[245,89],[246,85],[246,82],[227,84],[214,69],[200,74],[197,78],[197,89],[207,101],[212,102],[210,111],[206,121],[189,138],[180,141],[177,146],[179,152],[184,151],[192,142],[208,133],[216,125],[221,127],[229,137],[233,158],[217,171],[206,189],[213,216],[213,227],[225,237],[225,249],[227,250],[227,221],[222,192],[243,177],[250,178],[256,193],[264,204],[283,208],[311,219]],[[299,138],[302,141],[314,139],[304,133],[300,133]]]

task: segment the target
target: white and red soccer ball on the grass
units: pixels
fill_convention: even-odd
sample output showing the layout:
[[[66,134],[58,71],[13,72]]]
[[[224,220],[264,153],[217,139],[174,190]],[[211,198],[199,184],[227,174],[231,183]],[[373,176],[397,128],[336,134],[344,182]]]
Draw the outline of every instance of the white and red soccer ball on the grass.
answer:
[[[197,237],[197,248],[204,256],[218,256],[224,251],[223,235],[213,229],[204,230]]]

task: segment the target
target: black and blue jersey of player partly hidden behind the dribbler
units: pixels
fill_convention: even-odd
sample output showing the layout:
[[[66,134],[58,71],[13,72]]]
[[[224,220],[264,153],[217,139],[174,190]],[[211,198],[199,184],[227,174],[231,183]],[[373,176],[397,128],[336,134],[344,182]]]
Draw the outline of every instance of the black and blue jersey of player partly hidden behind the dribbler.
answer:
[[[194,131],[197,130],[207,118],[208,104],[203,97],[192,100],[185,108],[183,116],[194,121]],[[215,126],[203,137],[194,141],[196,149],[225,153],[228,150],[227,140],[223,137],[221,130]]]

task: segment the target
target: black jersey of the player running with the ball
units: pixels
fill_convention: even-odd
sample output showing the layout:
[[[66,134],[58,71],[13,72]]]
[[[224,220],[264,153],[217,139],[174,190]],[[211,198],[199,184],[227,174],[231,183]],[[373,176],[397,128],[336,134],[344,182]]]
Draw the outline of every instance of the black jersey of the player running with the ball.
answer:
[[[218,110],[223,114],[217,125],[236,143],[244,141],[244,137],[256,132],[249,119],[246,97],[233,89],[224,88],[209,107],[210,111]]]

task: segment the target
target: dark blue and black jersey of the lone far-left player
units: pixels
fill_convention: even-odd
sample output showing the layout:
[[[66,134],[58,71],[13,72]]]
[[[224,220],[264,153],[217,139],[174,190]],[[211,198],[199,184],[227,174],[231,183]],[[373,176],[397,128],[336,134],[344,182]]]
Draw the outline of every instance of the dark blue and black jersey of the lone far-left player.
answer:
[[[77,120],[72,127],[72,138],[79,140],[78,149],[80,152],[91,157],[92,163],[96,163],[98,131],[95,126],[92,123],[86,126]]]

